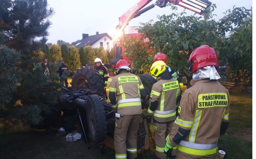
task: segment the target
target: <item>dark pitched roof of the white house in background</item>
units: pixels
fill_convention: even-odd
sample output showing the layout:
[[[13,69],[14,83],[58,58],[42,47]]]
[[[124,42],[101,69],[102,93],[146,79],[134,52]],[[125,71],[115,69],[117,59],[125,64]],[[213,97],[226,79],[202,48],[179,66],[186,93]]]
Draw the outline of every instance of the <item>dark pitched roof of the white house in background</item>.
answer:
[[[107,36],[110,40],[112,40],[112,37],[109,36],[107,33],[96,34],[96,35],[87,36],[87,37],[79,40],[75,44],[75,47],[79,49],[80,47],[84,48],[85,46],[93,45],[96,41],[98,41],[100,38],[102,38],[104,36]]]

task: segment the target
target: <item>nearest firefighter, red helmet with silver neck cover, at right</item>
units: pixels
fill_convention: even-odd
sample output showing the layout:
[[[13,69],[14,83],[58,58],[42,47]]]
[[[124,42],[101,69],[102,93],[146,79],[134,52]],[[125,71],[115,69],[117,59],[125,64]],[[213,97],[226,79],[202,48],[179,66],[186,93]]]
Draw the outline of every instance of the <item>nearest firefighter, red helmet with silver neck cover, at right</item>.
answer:
[[[166,138],[168,158],[177,147],[176,159],[218,159],[217,140],[228,127],[229,93],[217,80],[218,56],[208,45],[197,47],[189,58],[195,81],[181,99],[179,115]]]

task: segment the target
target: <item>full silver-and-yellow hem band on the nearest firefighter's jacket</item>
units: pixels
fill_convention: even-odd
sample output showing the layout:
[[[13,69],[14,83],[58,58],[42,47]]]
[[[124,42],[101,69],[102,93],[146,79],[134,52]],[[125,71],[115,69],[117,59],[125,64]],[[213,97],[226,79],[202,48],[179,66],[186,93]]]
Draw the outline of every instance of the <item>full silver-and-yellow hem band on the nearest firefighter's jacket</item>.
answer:
[[[218,148],[217,146],[217,143],[198,144],[187,141],[181,141],[178,145],[178,150],[192,155],[204,156],[215,154]]]

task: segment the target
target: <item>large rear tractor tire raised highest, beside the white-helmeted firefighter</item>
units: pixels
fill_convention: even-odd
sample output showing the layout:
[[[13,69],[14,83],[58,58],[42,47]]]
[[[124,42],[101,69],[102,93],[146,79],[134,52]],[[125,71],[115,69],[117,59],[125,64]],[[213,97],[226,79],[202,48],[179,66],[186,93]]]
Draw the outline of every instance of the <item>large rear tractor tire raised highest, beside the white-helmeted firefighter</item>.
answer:
[[[81,67],[73,73],[71,78],[72,89],[80,90],[83,88],[91,88],[97,91],[97,95],[105,97],[105,84],[97,70],[91,67]]]

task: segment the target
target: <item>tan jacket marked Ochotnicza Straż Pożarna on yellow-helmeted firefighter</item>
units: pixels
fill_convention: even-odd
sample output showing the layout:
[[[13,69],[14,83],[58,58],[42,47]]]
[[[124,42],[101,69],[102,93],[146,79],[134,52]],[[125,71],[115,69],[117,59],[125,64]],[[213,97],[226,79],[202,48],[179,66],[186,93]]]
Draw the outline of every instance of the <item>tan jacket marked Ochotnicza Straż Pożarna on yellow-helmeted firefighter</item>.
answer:
[[[176,79],[159,79],[150,93],[148,115],[159,123],[174,121],[176,118],[176,100],[180,95],[180,85]],[[156,109],[152,110],[152,102],[159,101]]]

